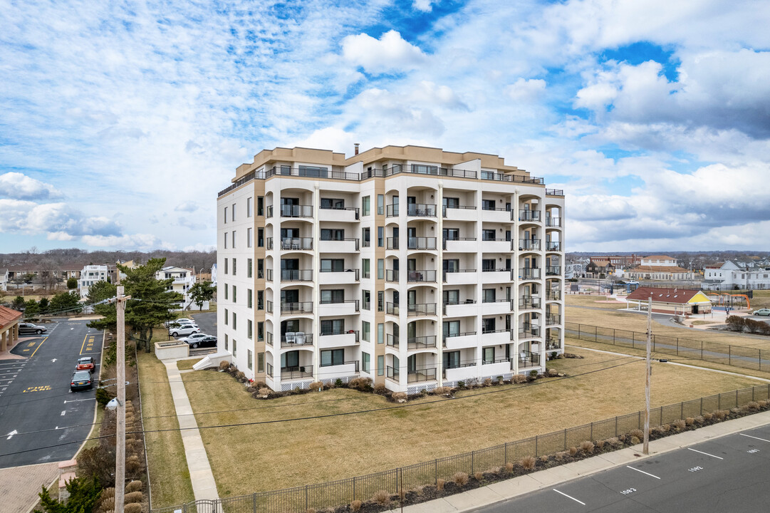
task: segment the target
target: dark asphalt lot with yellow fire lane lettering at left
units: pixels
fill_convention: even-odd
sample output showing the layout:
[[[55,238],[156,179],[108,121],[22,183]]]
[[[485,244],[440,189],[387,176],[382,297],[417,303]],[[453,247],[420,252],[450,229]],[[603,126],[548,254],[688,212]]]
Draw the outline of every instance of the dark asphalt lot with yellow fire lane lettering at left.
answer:
[[[70,426],[92,424],[95,386],[69,390],[80,355],[94,357],[95,379],[99,375],[102,332],[89,329],[87,322],[47,324],[42,337],[22,337],[28,340],[12,349],[25,360],[0,361],[0,377],[5,378],[0,381],[0,468],[72,459],[79,441],[88,437],[90,425]]]

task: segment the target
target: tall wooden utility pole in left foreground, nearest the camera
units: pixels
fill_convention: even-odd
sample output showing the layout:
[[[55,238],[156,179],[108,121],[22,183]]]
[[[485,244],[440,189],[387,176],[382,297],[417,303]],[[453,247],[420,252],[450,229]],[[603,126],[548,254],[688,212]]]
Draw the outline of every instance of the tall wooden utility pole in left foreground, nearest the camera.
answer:
[[[117,385],[118,409],[115,429],[115,513],[123,513],[123,501],[126,493],[126,300],[123,287],[118,287],[118,300],[115,310],[118,314],[117,344]]]

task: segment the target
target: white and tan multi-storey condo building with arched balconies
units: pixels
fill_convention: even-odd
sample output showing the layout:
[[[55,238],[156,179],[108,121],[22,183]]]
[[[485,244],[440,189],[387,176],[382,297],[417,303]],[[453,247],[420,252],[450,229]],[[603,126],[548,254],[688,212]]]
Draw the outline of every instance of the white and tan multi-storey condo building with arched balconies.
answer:
[[[502,158],[264,150],[217,199],[219,351],[274,390],[417,393],[564,348],[564,193]]]

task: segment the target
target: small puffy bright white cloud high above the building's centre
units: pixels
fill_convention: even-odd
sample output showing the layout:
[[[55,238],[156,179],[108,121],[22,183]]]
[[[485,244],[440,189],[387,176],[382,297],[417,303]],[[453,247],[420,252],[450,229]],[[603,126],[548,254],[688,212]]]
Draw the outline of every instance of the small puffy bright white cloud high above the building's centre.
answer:
[[[400,33],[389,30],[374,39],[367,34],[348,35],[342,40],[343,59],[370,73],[404,72],[426,61],[417,46],[404,41]]]

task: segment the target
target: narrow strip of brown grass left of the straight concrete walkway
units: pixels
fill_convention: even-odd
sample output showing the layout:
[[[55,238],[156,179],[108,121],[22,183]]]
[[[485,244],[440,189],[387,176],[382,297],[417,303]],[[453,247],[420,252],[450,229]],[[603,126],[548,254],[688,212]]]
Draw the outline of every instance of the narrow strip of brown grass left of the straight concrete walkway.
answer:
[[[158,417],[173,415],[175,410],[166,367],[155,354],[139,351],[139,384],[142,389],[145,430],[179,428],[176,416]],[[162,508],[192,501],[192,485],[179,431],[146,433],[145,440],[152,487],[152,507]]]

